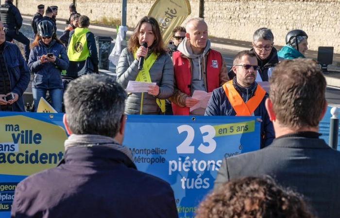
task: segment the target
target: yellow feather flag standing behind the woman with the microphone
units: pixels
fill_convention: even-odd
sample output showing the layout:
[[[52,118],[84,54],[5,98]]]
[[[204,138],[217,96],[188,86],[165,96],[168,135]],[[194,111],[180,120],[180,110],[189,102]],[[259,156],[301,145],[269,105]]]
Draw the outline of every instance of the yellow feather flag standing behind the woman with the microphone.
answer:
[[[190,14],[189,0],[156,0],[148,16],[152,16],[158,21],[164,44],[168,45],[173,28],[181,26]]]

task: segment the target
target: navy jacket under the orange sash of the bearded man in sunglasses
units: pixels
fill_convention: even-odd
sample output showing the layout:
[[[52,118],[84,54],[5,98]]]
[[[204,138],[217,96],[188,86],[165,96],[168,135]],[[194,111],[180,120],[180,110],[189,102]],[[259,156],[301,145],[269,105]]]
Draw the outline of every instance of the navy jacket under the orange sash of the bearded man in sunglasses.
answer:
[[[235,78],[234,78],[235,79]],[[234,82],[234,86],[235,82]],[[256,82],[255,82],[255,92],[256,90]],[[237,87],[235,87],[236,90],[239,91]],[[253,93],[249,93],[248,99],[253,96]],[[245,98],[245,94],[241,93],[242,98]],[[268,97],[268,94],[265,95],[263,100],[261,101],[260,105],[255,109],[254,115],[255,116],[261,116],[262,122],[261,122],[261,148],[266,147],[272,143],[272,140],[275,138],[275,132],[274,127],[272,125],[272,122],[269,119],[268,112],[265,107],[265,101]],[[231,106],[227,95],[225,94],[223,87],[217,88],[213,91],[208,106],[205,109],[205,116],[235,116],[236,112],[233,109],[233,106]]]

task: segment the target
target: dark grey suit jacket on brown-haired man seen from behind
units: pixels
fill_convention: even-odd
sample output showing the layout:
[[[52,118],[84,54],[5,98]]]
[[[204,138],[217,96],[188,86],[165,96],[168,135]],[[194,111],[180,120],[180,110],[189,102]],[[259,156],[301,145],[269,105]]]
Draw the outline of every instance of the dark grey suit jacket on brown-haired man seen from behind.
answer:
[[[340,152],[324,140],[283,137],[259,151],[226,158],[215,188],[231,179],[263,175],[303,194],[319,218],[340,218]]]

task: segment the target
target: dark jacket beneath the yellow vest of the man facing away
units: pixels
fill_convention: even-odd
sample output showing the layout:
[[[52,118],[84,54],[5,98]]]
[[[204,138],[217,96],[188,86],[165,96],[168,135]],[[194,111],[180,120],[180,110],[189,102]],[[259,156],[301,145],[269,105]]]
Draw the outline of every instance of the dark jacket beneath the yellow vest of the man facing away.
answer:
[[[68,45],[74,34],[74,30],[70,31]],[[90,52],[90,57],[88,57],[85,61],[81,62],[69,62],[69,68],[67,71],[67,75],[69,77],[77,78],[84,74],[89,73],[98,73],[98,51],[96,46],[96,40],[94,38],[94,34],[92,32],[86,33],[87,47]]]

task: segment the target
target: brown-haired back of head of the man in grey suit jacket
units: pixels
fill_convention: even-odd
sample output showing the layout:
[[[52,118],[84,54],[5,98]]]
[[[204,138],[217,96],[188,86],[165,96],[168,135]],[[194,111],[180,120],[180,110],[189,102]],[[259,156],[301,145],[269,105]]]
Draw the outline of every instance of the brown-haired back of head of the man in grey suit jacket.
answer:
[[[315,61],[283,61],[275,67],[270,82],[269,97],[281,126],[295,130],[319,125],[326,103],[326,80]]]

